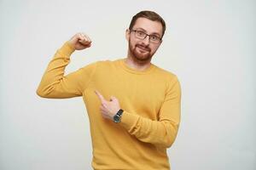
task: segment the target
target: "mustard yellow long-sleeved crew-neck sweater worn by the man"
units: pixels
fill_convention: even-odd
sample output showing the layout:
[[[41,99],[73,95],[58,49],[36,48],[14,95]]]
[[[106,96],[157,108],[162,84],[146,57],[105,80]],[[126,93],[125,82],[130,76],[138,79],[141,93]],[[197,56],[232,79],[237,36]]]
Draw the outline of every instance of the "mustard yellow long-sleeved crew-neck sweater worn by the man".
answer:
[[[166,149],[177,136],[181,90],[177,77],[151,64],[145,71],[124,59],[97,61],[64,76],[74,49],[66,42],[49,62],[38,86],[44,98],[83,96],[89,120],[94,169],[170,169]],[[104,119],[98,90],[115,96],[124,110],[121,122]]]

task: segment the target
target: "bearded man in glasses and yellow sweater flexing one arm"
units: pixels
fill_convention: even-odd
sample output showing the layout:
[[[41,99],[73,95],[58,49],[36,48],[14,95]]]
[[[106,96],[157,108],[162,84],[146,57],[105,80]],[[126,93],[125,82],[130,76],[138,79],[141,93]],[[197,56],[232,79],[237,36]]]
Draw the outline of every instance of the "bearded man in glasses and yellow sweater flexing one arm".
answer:
[[[125,32],[125,59],[97,61],[64,76],[74,50],[90,48],[78,33],[57,50],[38,87],[44,98],[83,96],[94,169],[170,169],[166,149],[177,136],[181,90],[177,77],[151,63],[166,30],[152,11],[141,11]]]

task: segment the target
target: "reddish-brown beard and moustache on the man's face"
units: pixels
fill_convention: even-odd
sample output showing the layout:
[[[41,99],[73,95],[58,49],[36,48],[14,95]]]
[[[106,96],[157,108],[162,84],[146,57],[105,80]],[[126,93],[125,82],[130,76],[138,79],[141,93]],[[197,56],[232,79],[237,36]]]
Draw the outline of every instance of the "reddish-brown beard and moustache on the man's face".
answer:
[[[131,40],[129,41],[129,51],[131,53],[131,57],[140,62],[145,62],[151,60],[154,54],[151,54],[151,48],[145,46],[143,44],[135,44],[135,46],[131,45]]]

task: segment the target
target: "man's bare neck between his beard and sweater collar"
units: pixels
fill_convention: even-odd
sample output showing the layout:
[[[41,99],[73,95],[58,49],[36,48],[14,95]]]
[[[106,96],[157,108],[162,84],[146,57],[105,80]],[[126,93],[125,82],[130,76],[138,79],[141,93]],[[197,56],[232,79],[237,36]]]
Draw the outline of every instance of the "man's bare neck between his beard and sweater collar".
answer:
[[[130,55],[127,56],[125,59],[125,64],[128,65],[130,68],[135,69],[137,71],[144,71],[148,69],[148,67],[151,65],[150,63],[151,59],[145,60],[145,61],[140,61],[137,59],[134,59]]]

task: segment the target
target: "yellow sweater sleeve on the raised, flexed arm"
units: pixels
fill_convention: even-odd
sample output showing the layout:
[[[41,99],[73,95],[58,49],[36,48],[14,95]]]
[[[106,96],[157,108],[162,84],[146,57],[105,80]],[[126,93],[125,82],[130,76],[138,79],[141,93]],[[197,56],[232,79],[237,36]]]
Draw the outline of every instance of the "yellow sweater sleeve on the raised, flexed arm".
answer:
[[[74,48],[65,42],[58,49],[49,62],[39,83],[37,94],[43,98],[72,98],[81,96],[84,88],[90,82],[93,72],[96,70],[96,63],[86,65],[78,71],[74,71],[64,76],[65,68],[70,62],[70,56]]]

